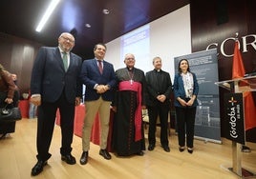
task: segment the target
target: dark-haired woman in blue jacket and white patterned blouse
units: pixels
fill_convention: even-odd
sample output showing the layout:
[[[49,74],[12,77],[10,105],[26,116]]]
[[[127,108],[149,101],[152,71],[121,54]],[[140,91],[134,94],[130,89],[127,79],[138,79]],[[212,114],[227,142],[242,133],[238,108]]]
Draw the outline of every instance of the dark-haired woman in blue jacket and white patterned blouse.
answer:
[[[181,59],[179,72],[174,78],[174,106],[177,116],[180,151],[185,149],[186,136],[187,151],[193,153],[198,92],[199,85],[195,73],[190,71],[188,61]]]

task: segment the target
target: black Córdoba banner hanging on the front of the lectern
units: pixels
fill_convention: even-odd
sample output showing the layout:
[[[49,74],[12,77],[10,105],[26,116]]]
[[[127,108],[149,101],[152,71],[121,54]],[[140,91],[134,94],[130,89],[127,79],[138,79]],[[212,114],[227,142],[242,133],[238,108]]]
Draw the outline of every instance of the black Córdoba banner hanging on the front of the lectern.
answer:
[[[245,145],[243,93],[225,93],[224,109],[224,137]]]

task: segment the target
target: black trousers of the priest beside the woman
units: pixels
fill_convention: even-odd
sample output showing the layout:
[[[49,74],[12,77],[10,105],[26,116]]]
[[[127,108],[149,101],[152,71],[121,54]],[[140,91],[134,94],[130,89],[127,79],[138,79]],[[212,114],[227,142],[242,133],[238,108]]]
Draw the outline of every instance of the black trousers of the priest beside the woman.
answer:
[[[158,103],[154,107],[147,107],[149,117],[148,142],[155,146],[156,144],[156,125],[158,116],[160,116],[160,144],[168,146],[168,112],[169,105]]]

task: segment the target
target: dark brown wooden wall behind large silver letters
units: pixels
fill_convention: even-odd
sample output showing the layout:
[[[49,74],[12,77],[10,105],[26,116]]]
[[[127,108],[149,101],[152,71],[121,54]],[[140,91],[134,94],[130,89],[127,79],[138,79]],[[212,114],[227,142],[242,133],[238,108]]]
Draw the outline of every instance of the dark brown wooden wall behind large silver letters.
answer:
[[[238,40],[243,51],[242,37],[248,34],[256,35],[256,1],[239,0],[238,3],[232,0],[215,1],[192,1],[191,13],[191,37],[192,51],[206,50],[209,44],[217,43],[219,59],[220,80],[231,78],[232,59],[226,57],[220,50],[224,40],[235,37],[239,32]],[[253,38],[247,42],[252,42]],[[224,43],[226,54],[233,54],[234,41],[229,40]],[[243,52],[245,71],[249,72],[256,68],[256,50],[247,46],[248,51]]]

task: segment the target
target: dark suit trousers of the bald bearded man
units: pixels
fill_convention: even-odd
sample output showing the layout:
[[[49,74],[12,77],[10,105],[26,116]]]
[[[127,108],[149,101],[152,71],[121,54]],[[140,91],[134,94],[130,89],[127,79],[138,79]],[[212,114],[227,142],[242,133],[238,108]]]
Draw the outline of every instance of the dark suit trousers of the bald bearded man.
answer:
[[[61,155],[71,153],[71,145],[74,133],[74,117],[75,117],[75,101],[71,104],[67,101],[64,92],[60,98],[53,103],[42,102],[38,107],[37,119],[37,159],[46,161],[51,157],[49,148],[53,137],[53,129],[55,124],[56,110],[60,112],[60,128],[61,128]]]

